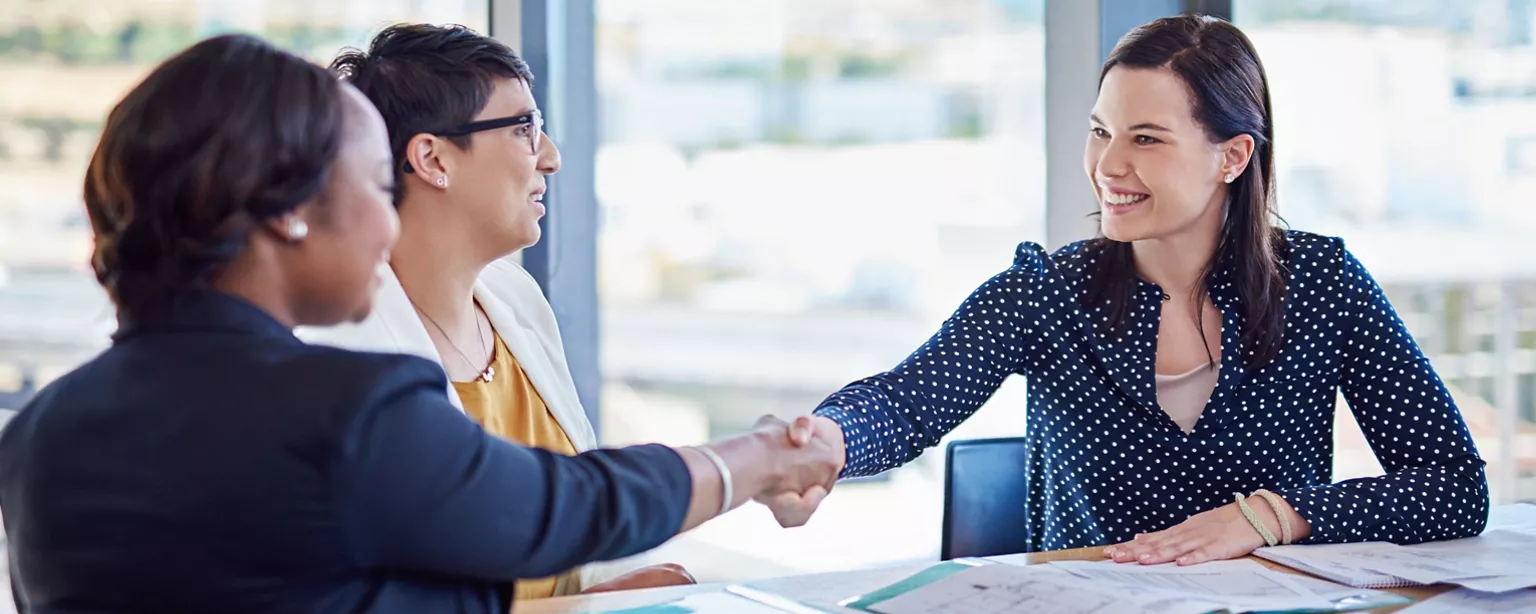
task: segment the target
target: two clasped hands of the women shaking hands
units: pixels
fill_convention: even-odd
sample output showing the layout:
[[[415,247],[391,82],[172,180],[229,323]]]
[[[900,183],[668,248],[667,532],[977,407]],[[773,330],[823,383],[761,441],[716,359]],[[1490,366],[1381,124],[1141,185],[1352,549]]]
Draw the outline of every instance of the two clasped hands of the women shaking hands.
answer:
[[[730,467],[737,500],[751,497],[773,510],[780,527],[800,527],[833,490],[843,470],[843,430],[828,418],[785,422],[763,416],[753,431],[710,444]]]

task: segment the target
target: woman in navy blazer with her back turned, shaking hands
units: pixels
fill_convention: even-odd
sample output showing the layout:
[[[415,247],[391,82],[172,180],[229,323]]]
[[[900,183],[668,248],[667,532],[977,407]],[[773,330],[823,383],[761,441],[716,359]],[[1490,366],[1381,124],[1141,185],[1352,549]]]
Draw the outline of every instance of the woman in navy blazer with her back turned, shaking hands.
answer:
[[[430,361],[298,341],[369,313],[392,167],[367,98],[250,37],[112,111],[84,200],[118,332],[0,434],[22,611],[499,614],[515,579],[829,487],[808,422],[565,457],[485,434]]]

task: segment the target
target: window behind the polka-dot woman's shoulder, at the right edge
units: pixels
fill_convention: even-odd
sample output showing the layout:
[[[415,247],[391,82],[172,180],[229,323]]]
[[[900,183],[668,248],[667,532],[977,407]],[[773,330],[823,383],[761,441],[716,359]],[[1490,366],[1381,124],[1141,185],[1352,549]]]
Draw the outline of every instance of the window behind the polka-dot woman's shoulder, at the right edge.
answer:
[[[1452,387],[1495,502],[1536,497],[1536,3],[1240,0],[1279,210],[1347,239]],[[1336,477],[1379,473],[1349,413]],[[1508,428],[1514,427],[1514,428]]]

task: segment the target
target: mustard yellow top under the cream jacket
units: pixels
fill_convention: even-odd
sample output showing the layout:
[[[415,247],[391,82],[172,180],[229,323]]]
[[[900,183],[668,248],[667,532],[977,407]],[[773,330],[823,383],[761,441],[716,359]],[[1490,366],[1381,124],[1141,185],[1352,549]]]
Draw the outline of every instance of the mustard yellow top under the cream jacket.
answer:
[[[528,381],[518,358],[507,350],[501,335],[495,338],[492,381],[453,382],[453,391],[459,393],[459,401],[464,402],[464,413],[498,437],[559,454],[576,454],[576,445]],[[545,599],[576,593],[579,586],[579,569],[570,569],[553,577],[518,580],[513,597],[519,602]]]

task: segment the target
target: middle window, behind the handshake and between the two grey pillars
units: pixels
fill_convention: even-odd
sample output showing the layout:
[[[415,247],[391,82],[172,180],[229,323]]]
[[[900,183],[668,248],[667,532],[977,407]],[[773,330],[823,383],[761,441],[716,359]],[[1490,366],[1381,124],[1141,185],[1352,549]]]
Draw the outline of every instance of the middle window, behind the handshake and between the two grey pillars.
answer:
[[[1041,8],[598,2],[605,444],[808,413],[1043,241]],[[954,437],[1020,434],[1021,390]],[[935,450],[802,530],[745,507],[648,557],[700,580],[932,559],[942,487]]]

